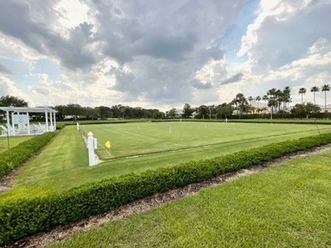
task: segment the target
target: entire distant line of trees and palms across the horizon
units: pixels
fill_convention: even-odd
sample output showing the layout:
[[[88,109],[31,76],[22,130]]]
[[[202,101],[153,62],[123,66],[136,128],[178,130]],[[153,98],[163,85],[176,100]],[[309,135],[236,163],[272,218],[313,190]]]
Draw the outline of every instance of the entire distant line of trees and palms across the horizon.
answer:
[[[126,105],[114,105],[112,107],[82,107],[79,104],[56,105],[57,119],[63,120],[72,117],[85,119],[106,119],[106,118],[228,118],[232,114],[236,114],[241,118],[243,114],[295,114],[310,116],[321,112],[321,108],[316,105],[316,94],[321,89],[324,92],[324,112],[327,112],[327,92],[331,90],[330,85],[322,87],[314,86],[310,89],[314,96],[314,103],[304,102],[303,96],[307,92],[304,87],[299,89],[301,95],[301,103],[296,104],[290,109],[292,103],[291,89],[289,86],[281,89],[272,88],[263,96],[248,96],[238,93],[229,103],[221,103],[219,105],[200,105],[199,107],[191,107],[189,103],[183,105],[181,111],[172,108],[167,112],[161,112],[157,109],[145,109],[143,107],[130,107]],[[256,104],[253,105],[252,101]],[[261,106],[261,103],[263,105]],[[28,102],[19,99],[15,96],[1,96],[0,106],[27,107]]]

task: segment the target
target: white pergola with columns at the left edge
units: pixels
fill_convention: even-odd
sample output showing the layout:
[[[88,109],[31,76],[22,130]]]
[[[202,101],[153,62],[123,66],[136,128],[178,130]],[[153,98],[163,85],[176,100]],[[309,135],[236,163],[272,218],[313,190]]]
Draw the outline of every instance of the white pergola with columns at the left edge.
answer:
[[[50,107],[0,107],[6,112],[6,126],[0,125],[0,136],[36,135],[56,130],[56,110]],[[44,113],[45,124],[30,124],[31,113]]]

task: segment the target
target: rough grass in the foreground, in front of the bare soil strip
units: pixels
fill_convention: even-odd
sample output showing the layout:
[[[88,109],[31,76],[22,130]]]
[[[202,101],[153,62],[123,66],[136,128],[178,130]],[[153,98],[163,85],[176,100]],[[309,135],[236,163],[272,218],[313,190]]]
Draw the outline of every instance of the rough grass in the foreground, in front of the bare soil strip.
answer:
[[[50,247],[330,247],[330,161],[296,158]]]

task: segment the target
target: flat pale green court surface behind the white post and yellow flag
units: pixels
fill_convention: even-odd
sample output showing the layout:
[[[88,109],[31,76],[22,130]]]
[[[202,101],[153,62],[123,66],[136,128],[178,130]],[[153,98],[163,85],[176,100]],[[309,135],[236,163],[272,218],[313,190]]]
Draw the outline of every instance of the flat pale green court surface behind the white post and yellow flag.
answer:
[[[325,127],[321,127],[322,129]],[[329,127],[326,127],[329,128]],[[314,125],[260,125],[247,123],[161,122],[85,125],[99,141],[101,158],[148,154],[210,144],[252,141],[255,138],[317,131]],[[104,145],[110,140],[110,151]],[[110,156],[111,154],[111,156]]]

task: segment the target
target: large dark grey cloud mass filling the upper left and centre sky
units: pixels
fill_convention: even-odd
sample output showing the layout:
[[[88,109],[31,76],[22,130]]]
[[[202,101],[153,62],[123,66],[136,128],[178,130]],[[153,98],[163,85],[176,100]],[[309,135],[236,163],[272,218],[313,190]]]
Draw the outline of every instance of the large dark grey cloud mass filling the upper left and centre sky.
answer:
[[[0,32],[58,61],[66,74],[83,74],[83,85],[95,76],[112,76],[108,89],[126,99],[171,103],[212,86],[191,82],[206,63],[223,58],[210,42],[244,2],[80,1],[77,16],[63,1],[1,1]],[[104,59],[117,66],[96,75],[93,68]]]

